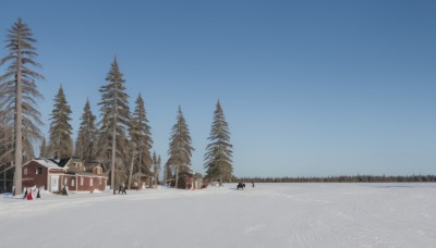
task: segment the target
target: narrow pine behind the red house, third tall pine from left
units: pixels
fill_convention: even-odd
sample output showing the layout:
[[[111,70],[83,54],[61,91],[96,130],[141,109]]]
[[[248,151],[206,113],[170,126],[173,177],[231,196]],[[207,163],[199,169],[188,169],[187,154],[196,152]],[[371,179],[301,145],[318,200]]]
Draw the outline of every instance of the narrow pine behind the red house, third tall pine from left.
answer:
[[[97,127],[96,116],[90,111],[89,99],[86,100],[81,121],[75,141],[75,156],[81,160],[92,162],[96,159]]]

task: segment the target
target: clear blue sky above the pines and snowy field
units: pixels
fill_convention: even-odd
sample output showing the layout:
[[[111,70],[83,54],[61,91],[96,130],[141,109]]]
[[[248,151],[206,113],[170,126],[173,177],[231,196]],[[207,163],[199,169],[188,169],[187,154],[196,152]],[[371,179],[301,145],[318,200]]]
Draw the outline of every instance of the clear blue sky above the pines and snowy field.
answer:
[[[237,176],[436,174],[435,13],[419,0],[3,0],[0,36],[23,17],[38,39],[46,134],[60,84],[74,139],[86,98],[99,116],[117,54],[164,161],[180,104],[204,172],[219,99]]]

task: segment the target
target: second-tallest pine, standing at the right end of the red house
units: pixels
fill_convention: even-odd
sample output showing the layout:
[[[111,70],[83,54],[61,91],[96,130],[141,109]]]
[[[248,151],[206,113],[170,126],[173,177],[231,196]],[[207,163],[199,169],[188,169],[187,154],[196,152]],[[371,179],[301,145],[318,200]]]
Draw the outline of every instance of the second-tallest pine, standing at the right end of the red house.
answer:
[[[118,183],[126,178],[124,163],[128,159],[124,156],[129,153],[129,146],[125,131],[130,122],[130,109],[122,76],[114,58],[106,77],[108,84],[99,89],[101,101],[98,106],[102,119],[99,123],[98,158],[106,163],[110,161],[111,189],[114,189],[116,177]]]

